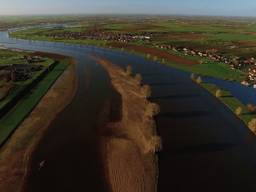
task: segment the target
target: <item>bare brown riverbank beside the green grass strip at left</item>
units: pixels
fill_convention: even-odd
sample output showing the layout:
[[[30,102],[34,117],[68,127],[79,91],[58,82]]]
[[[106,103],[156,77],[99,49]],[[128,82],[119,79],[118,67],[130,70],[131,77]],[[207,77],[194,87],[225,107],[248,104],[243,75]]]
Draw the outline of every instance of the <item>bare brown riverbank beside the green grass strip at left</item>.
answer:
[[[0,150],[0,191],[21,191],[30,157],[51,121],[67,106],[76,90],[75,64],[59,77],[32,113]]]

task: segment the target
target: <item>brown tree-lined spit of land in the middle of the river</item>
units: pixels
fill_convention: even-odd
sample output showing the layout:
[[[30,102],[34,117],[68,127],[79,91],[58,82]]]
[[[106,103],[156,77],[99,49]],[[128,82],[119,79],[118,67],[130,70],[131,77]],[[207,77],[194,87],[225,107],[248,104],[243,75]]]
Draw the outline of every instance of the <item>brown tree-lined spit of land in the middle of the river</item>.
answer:
[[[108,60],[96,58],[109,73],[117,91],[112,98],[110,122],[104,129],[102,149],[106,177],[113,192],[154,192],[160,138],[153,117],[156,104],[147,100],[148,86]]]

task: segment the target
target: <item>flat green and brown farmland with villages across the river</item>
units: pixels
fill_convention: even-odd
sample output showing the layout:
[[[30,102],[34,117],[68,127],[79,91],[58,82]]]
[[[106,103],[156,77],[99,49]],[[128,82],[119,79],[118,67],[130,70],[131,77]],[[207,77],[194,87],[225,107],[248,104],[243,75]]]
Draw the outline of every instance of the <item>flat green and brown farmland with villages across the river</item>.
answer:
[[[183,17],[84,17],[65,27],[33,28],[13,37],[89,44],[137,52],[172,67],[254,84],[256,24],[250,19]],[[138,51],[137,46],[140,46]],[[148,53],[148,49],[154,49]],[[177,59],[166,59],[167,52]],[[190,54],[192,52],[192,54]],[[202,55],[200,55],[202,53]],[[186,63],[197,65],[188,66]]]

